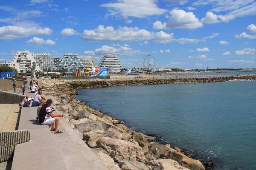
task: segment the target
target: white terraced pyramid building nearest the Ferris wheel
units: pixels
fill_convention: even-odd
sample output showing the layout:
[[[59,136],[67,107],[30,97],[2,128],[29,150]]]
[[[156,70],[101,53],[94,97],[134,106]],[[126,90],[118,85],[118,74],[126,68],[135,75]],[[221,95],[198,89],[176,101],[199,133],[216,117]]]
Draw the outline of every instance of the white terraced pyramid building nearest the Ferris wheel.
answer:
[[[113,72],[120,72],[122,65],[116,55],[113,54],[106,54],[102,57],[101,61],[99,62],[100,67],[108,67],[108,70]],[[111,68],[111,69],[109,69]]]

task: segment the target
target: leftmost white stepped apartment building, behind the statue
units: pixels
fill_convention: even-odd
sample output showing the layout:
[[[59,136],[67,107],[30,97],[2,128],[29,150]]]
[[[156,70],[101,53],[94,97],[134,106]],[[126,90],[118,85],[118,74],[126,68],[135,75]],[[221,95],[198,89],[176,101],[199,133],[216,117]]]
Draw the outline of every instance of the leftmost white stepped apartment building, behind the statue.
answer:
[[[8,66],[16,68],[18,73],[26,73],[30,71],[29,67],[32,67],[32,63],[36,60],[30,54],[30,51],[17,51],[15,57],[13,58],[12,62],[6,63]],[[41,71],[40,67],[36,63],[35,71]]]

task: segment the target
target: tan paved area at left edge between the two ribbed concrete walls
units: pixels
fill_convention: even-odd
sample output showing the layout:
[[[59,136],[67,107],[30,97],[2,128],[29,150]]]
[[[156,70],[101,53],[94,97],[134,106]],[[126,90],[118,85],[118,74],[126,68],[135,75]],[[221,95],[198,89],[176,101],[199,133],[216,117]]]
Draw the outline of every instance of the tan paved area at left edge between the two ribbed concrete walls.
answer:
[[[15,130],[20,107],[17,104],[0,104],[0,131]]]

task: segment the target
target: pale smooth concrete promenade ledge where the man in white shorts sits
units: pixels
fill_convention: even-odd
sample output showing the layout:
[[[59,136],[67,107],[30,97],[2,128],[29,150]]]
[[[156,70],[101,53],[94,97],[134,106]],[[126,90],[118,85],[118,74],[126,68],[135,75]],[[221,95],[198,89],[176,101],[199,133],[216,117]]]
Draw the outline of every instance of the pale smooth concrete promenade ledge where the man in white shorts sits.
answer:
[[[34,96],[29,90],[24,95]],[[16,145],[13,170],[108,170],[64,118],[58,127],[63,133],[55,134],[48,125],[39,125],[36,110],[21,109],[18,129],[30,130],[31,140]]]

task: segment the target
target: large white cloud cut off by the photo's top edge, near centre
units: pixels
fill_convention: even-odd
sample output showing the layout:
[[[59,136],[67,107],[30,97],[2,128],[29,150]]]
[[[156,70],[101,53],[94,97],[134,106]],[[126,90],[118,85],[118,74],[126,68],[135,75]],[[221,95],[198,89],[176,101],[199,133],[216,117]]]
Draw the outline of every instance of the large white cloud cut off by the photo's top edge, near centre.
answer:
[[[166,9],[158,8],[156,0],[118,0],[116,3],[104,3],[100,7],[108,8],[109,15],[124,19],[128,17],[145,18],[161,15]]]

